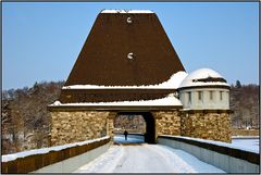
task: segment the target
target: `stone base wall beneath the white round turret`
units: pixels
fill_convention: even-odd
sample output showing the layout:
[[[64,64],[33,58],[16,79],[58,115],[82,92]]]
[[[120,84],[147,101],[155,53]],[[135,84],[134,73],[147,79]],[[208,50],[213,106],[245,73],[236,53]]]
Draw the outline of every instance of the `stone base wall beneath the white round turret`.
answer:
[[[227,112],[183,112],[182,136],[231,142],[231,116]]]

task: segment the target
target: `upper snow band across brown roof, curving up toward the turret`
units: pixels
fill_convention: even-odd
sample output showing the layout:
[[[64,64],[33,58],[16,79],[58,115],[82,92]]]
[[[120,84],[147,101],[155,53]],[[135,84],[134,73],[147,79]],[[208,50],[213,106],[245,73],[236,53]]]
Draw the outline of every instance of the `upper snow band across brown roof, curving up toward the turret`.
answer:
[[[148,86],[98,86],[98,85],[72,85],[63,86],[62,89],[176,89],[187,76],[184,71],[173,74],[169,80],[159,85]]]

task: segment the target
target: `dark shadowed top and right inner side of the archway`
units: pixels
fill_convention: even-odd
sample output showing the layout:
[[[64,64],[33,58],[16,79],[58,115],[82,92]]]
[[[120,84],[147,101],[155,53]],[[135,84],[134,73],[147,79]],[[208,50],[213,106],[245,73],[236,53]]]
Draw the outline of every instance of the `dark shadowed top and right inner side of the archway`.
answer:
[[[142,115],[146,122],[145,142],[156,143],[156,122],[150,112],[119,112],[117,115]]]

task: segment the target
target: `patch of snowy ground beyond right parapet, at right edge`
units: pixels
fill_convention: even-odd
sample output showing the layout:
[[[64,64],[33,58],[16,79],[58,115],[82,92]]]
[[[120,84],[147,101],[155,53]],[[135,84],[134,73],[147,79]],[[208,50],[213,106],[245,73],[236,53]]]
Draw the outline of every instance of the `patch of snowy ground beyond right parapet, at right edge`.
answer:
[[[232,145],[246,150],[259,151],[259,138],[233,138]]]

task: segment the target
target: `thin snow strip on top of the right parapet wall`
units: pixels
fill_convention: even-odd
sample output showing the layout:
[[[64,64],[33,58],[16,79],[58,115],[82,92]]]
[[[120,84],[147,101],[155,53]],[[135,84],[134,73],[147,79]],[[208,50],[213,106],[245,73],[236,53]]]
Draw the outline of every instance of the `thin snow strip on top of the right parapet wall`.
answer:
[[[201,138],[185,137],[185,136],[171,136],[171,135],[161,135],[161,136],[174,137],[174,138],[183,138],[183,139],[186,139],[186,140],[195,140],[195,141],[199,141],[199,142],[207,142],[207,143],[211,143],[211,145],[216,145],[216,146],[238,149],[238,150],[243,150],[243,151],[249,151],[249,152],[259,153],[259,150],[244,148],[244,147],[238,147],[238,146],[234,146],[232,143],[223,142],[223,141],[214,141],[214,140],[208,140],[208,139],[201,139]]]

